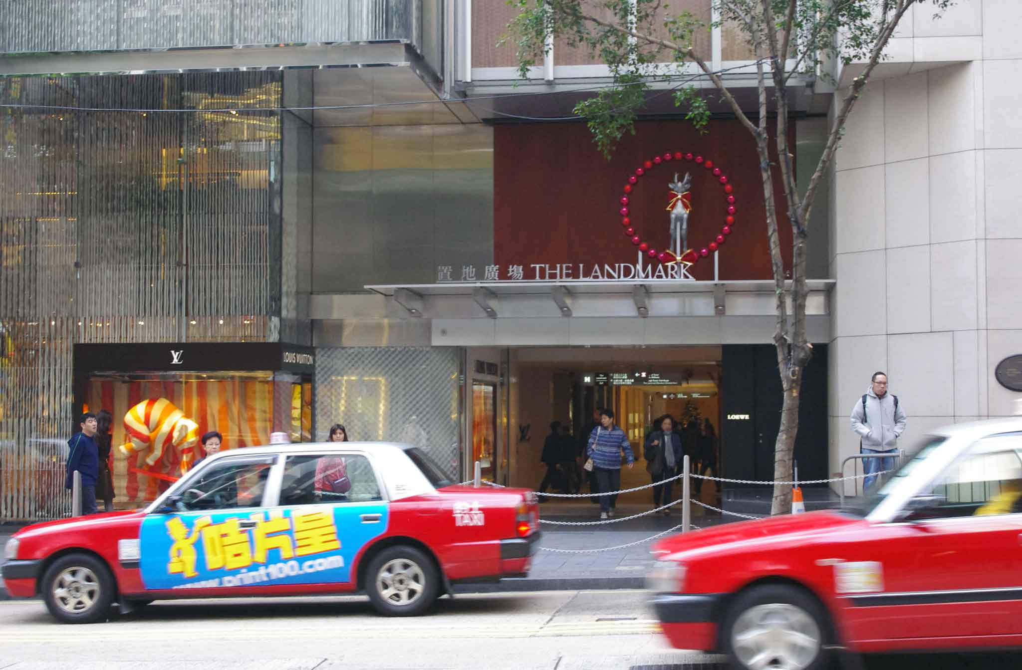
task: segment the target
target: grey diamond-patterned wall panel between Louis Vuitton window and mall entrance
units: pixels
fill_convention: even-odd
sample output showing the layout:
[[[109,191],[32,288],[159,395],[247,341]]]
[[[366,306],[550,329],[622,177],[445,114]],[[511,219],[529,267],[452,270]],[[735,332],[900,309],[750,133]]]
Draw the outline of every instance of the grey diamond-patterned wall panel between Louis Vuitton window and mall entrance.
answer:
[[[457,349],[318,348],[314,396],[317,439],[340,423],[349,439],[415,444],[461,472]]]

